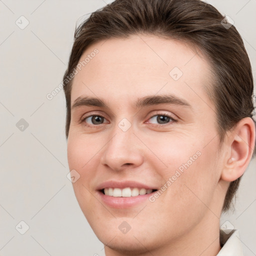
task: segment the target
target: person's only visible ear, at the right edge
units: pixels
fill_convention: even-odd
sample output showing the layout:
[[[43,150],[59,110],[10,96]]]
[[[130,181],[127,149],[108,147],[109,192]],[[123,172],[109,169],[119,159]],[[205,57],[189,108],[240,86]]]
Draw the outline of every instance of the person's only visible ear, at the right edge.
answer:
[[[225,143],[224,166],[221,179],[233,181],[246,170],[255,145],[255,124],[250,117],[241,119],[228,133]]]

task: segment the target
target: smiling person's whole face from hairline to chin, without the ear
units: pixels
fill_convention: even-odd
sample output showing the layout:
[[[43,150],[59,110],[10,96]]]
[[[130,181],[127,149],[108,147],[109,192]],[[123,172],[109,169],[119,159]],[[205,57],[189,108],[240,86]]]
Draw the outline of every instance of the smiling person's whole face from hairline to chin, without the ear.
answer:
[[[221,158],[207,60],[152,35],[97,42],[80,61],[88,54],[73,79],[67,156],[79,174],[75,196],[106,251],[153,250],[218,228]]]

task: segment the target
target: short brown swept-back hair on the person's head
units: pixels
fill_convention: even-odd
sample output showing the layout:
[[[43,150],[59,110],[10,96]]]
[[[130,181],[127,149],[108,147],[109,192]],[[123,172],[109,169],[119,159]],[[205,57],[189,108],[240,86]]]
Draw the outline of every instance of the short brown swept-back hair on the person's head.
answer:
[[[92,12],[75,30],[68,68],[63,76],[66,137],[70,125],[72,79],[66,79],[85,49],[110,37],[144,33],[192,43],[209,59],[215,81],[207,89],[215,104],[220,144],[225,132],[244,117],[252,118],[253,79],[241,36],[228,27],[212,5],[201,0],[115,0]],[[253,155],[255,154],[255,151]],[[230,208],[240,177],[228,187],[223,211]]]

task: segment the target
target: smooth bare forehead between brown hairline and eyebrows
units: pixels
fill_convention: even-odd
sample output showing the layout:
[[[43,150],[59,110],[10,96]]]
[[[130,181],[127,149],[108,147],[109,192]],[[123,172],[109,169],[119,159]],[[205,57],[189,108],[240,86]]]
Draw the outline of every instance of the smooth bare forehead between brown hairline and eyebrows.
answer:
[[[132,99],[148,94],[172,93],[200,106],[212,105],[203,89],[212,82],[211,68],[197,51],[183,42],[153,35],[94,43],[80,57],[71,103],[79,96],[93,96],[132,104]]]

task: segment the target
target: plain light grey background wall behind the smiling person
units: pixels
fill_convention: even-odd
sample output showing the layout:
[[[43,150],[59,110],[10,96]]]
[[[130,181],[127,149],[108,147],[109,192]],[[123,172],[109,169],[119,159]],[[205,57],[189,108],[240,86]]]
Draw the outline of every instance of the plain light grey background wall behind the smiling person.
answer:
[[[104,255],[66,175],[65,99],[61,82],[75,23],[110,1],[0,0],[0,255]],[[256,67],[256,0],[208,0],[234,20]],[[23,15],[29,24],[20,29]],[[25,20],[23,19],[22,24]],[[24,121],[23,131],[19,125]],[[16,126],[17,122],[19,128]],[[24,123],[23,123],[24,124]],[[220,224],[240,230],[256,255],[256,161],[239,188],[236,211]],[[29,229],[24,230],[25,221]],[[229,221],[229,222],[225,222]],[[20,226],[21,224],[21,226]],[[15,228],[17,226],[17,229]],[[19,228],[18,228],[19,227]],[[96,255],[96,254],[95,254]]]

